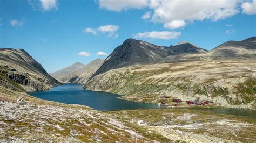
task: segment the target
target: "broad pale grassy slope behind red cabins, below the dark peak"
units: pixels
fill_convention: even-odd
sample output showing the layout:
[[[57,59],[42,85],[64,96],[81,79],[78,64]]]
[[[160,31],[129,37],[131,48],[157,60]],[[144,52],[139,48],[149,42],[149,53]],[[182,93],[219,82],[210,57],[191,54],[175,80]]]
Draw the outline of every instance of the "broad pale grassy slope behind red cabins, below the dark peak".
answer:
[[[200,97],[221,106],[255,110],[256,61],[201,59],[130,66],[97,75],[84,88],[147,103],[164,101],[164,95],[183,101]]]

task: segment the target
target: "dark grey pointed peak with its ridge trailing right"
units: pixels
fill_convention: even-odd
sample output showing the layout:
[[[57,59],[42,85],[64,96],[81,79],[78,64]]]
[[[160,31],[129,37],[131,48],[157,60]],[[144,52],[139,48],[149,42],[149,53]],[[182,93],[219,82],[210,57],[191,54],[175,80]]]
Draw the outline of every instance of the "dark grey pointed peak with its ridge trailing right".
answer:
[[[206,52],[206,50],[188,42],[166,47],[142,40],[127,39],[114,49],[93,76],[114,68],[157,62],[169,55],[202,52]]]

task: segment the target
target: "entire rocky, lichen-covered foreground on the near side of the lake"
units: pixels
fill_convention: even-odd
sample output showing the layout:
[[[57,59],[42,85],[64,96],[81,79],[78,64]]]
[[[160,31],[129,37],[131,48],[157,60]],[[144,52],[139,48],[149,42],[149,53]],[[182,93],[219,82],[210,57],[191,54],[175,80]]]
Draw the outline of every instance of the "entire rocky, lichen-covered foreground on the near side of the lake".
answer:
[[[256,119],[188,109],[100,112],[0,87],[0,141],[256,141]]]

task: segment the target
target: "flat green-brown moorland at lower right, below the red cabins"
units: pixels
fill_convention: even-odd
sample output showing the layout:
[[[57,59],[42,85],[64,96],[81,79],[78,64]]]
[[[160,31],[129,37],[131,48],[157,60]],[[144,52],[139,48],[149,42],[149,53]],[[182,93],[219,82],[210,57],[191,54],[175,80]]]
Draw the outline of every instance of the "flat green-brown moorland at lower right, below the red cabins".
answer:
[[[109,112],[150,139],[185,142],[256,141],[256,119],[188,109]]]

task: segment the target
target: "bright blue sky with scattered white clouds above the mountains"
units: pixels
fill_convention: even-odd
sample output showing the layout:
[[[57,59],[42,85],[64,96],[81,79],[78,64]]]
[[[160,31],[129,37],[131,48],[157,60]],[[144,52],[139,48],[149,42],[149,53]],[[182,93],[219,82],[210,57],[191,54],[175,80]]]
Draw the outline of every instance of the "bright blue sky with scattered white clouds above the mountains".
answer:
[[[256,0],[0,0],[0,48],[52,73],[106,58],[128,38],[212,49],[256,35]]]

